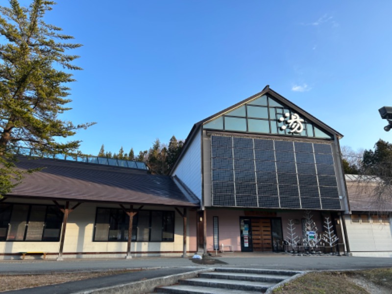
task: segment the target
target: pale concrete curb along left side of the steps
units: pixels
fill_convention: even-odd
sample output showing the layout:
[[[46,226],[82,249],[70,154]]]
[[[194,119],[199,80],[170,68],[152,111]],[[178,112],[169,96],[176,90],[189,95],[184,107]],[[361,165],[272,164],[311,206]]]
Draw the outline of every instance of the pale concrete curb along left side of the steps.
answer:
[[[73,294],[143,294],[154,292],[156,287],[170,286],[180,279],[189,279],[196,277],[200,272],[213,271],[214,268],[204,268],[201,270],[193,270],[185,273],[173,274],[159,278],[147,279],[145,281],[131,282],[111,287],[84,290],[74,292]]]

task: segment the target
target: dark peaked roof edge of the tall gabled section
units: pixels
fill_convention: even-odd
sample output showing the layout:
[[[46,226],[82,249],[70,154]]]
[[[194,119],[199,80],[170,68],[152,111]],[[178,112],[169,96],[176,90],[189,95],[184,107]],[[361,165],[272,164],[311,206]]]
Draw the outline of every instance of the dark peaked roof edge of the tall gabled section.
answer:
[[[181,157],[185,154],[186,149],[189,147],[190,142],[192,141],[192,138],[195,136],[197,130],[199,129],[200,125],[207,123],[208,121],[213,120],[216,117],[221,116],[222,114],[242,105],[245,104],[246,102],[253,100],[259,96],[265,95],[265,94],[270,94],[270,96],[272,96],[273,98],[277,99],[278,101],[281,101],[283,104],[289,106],[290,108],[293,108],[298,114],[300,114],[303,117],[306,117],[309,121],[316,123],[318,126],[320,126],[321,128],[325,129],[327,132],[335,134],[337,137],[342,138],[343,135],[341,133],[339,133],[338,131],[334,130],[333,128],[331,128],[330,126],[328,126],[327,124],[321,122],[319,119],[315,118],[313,115],[311,115],[310,113],[306,112],[305,110],[303,110],[302,108],[300,108],[299,106],[295,105],[293,102],[289,101],[288,99],[284,98],[283,96],[279,95],[277,92],[273,91],[272,89],[270,89],[270,86],[267,85],[266,87],[264,87],[263,91],[249,97],[246,98],[230,107],[227,107],[225,109],[223,109],[222,111],[213,114],[212,116],[209,116],[208,118],[195,123],[194,126],[192,127],[191,131],[189,132],[188,137],[185,140],[185,144],[184,147],[181,150],[180,156],[178,156],[172,171],[174,171],[176,165],[178,164],[178,162],[180,161]],[[172,172],[171,171],[171,172]]]

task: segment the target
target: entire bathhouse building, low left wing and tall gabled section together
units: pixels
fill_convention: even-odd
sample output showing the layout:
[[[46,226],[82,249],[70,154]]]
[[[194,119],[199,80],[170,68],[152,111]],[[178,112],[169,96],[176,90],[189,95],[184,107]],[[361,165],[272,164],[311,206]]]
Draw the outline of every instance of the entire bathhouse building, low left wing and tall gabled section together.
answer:
[[[288,222],[309,238],[306,212],[314,233],[327,218],[349,251],[340,138],[267,86],[196,123],[170,176],[103,158],[21,158],[19,168],[42,169],[0,200],[0,256],[279,251]]]

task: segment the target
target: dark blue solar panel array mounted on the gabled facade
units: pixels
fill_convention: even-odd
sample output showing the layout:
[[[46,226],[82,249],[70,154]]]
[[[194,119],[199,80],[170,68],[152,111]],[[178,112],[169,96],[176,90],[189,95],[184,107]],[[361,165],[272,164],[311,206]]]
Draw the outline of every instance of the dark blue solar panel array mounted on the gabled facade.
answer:
[[[330,144],[211,136],[215,206],[341,210]]]

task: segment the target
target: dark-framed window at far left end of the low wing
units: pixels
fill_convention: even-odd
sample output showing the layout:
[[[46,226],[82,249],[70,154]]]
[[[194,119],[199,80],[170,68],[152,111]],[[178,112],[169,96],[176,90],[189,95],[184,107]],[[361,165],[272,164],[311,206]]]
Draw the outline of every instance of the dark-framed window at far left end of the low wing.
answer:
[[[63,213],[54,205],[0,205],[0,241],[60,240]]]

